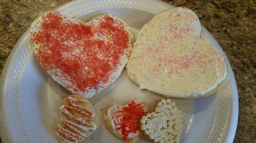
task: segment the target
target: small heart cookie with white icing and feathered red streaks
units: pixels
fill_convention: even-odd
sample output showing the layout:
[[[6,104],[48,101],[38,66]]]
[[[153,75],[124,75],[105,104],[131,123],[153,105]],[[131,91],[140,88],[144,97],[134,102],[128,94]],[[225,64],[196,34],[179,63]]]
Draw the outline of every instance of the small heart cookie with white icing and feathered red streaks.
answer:
[[[113,104],[105,112],[105,125],[117,137],[135,143],[142,135],[139,119],[146,112],[146,104],[140,99],[132,100],[125,106]]]

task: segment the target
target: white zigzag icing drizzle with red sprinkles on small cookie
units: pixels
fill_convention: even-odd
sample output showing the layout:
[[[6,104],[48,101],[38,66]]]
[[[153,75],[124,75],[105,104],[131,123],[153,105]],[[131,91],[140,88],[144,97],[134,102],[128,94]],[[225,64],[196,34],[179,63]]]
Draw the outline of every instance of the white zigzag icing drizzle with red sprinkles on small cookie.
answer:
[[[69,118],[73,118],[74,120],[78,121],[78,123],[70,121],[67,118],[61,117],[61,120],[60,120],[61,123],[63,123],[68,128],[72,129],[74,132],[70,132],[69,130],[63,128],[60,125],[57,125],[55,129],[57,131],[58,137],[65,140],[67,143],[78,143],[79,141],[87,138],[87,135],[84,134],[82,131],[93,132],[97,129],[96,124],[91,121],[91,118],[94,118],[95,114],[92,110],[77,104],[77,103],[85,103],[87,102],[87,99],[78,99],[70,96],[67,98],[67,101],[69,104],[63,104],[59,108],[59,110],[63,114],[68,115]],[[84,115],[84,117],[87,117],[88,120],[86,121],[82,117],[74,115],[72,112],[70,112],[71,109],[73,111],[81,113],[82,115]],[[85,124],[90,127],[83,126],[82,124]]]

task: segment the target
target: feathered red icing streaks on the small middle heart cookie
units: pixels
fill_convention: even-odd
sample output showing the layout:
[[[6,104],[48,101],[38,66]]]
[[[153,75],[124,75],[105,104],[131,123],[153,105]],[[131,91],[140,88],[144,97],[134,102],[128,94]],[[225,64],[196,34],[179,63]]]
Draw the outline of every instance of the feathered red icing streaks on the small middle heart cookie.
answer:
[[[114,120],[115,125],[120,126],[119,128],[116,128],[116,130],[121,130],[122,132],[122,140],[130,141],[131,138],[128,137],[130,133],[136,133],[139,131],[139,125],[138,121],[140,117],[147,112],[147,110],[144,108],[145,103],[135,103],[135,101],[131,101],[127,106],[122,107],[122,110],[114,112],[118,113],[118,116],[114,118],[121,117],[120,121],[121,123],[116,123]],[[114,114],[113,113],[113,114]],[[139,134],[138,136],[140,136]]]

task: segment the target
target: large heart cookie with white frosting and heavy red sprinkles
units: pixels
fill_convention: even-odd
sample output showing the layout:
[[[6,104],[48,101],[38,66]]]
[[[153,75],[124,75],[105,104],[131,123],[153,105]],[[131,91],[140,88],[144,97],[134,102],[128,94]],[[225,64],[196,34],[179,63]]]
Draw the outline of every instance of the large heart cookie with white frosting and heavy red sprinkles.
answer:
[[[112,14],[84,23],[64,11],[39,16],[30,35],[35,56],[47,73],[85,98],[120,76],[134,41],[131,28]]]

